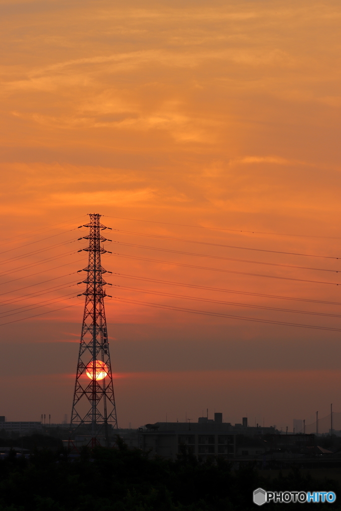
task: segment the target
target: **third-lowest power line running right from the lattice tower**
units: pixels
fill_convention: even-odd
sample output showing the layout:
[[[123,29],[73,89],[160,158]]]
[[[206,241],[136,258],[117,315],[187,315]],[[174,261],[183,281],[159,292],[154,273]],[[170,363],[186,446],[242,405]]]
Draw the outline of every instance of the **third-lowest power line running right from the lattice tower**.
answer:
[[[150,277],[141,277],[138,275],[127,275],[125,273],[112,273],[113,275],[118,275],[123,278],[131,278],[132,280],[138,280],[142,282],[155,282],[157,284],[167,284],[169,286],[180,286],[186,287],[190,289],[204,289],[208,291],[219,291],[223,293],[233,293],[233,294],[241,294],[246,296],[260,296],[262,298],[277,298],[280,300],[293,300],[293,301],[304,301],[309,304],[325,304],[325,305],[341,305],[339,301],[324,301],[324,300],[312,300],[309,298],[294,298],[292,296],[279,296],[276,294],[262,294],[262,293],[252,293],[250,291],[236,291],[235,289],[223,289],[223,288],[215,288],[209,286],[199,286],[197,284],[186,284],[183,282],[173,282],[173,281],[165,281],[158,278],[150,278]]]

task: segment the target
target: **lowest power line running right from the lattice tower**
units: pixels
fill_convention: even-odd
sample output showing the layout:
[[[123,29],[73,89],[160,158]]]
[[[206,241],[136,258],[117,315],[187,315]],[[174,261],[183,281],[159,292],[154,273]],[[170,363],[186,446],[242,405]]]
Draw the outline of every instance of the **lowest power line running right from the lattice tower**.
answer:
[[[187,309],[185,307],[175,307],[172,305],[162,305],[162,304],[154,304],[146,301],[140,301],[140,300],[130,300],[128,298],[121,298],[120,296],[113,296],[114,300],[119,301],[121,303],[127,303],[127,304],[135,304],[135,305],[143,305],[147,307],[154,307],[156,309],[167,309],[171,311],[179,311],[179,312],[190,312],[192,314],[202,314],[204,316],[214,316],[214,317],[222,317],[222,318],[232,318],[232,319],[241,319],[243,321],[252,321],[256,323],[268,323],[268,324],[280,324],[287,327],[299,327],[299,328],[310,328],[313,330],[325,330],[329,332],[341,332],[340,328],[330,328],[330,327],[315,327],[314,325],[310,324],[300,324],[300,323],[290,323],[288,321],[274,321],[271,319],[258,319],[258,318],[251,318],[251,317],[245,317],[245,316],[235,316],[232,314],[223,314],[220,312],[209,312],[209,311],[199,311],[196,309]]]

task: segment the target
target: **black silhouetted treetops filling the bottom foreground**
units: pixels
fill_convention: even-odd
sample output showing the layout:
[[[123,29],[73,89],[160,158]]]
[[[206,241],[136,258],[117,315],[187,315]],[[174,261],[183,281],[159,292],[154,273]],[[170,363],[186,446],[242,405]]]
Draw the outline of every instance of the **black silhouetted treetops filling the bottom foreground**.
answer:
[[[176,461],[149,459],[118,439],[118,449],[35,449],[30,458],[0,460],[0,511],[244,511],[255,509],[253,491],[334,491],[336,481],[315,482],[293,471],[271,481],[252,465],[231,471],[217,459],[199,463],[186,446]],[[341,500],[341,499],[340,499]],[[307,504],[285,504],[297,509]],[[266,511],[279,504],[266,504]],[[313,504],[341,510],[341,502]],[[301,508],[301,507],[300,507]]]

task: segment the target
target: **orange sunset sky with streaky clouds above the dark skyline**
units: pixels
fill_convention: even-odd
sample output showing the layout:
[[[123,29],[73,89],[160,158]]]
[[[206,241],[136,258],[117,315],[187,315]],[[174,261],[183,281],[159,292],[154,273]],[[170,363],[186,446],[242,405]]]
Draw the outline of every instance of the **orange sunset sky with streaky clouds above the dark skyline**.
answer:
[[[0,415],[70,420],[88,213],[120,427],[341,412],[339,1],[0,11]]]

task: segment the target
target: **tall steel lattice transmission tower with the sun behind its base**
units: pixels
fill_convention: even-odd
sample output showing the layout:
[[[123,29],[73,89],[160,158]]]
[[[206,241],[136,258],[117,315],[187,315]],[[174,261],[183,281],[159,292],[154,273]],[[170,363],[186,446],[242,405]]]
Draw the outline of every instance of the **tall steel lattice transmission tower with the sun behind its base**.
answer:
[[[70,426],[90,434],[93,445],[99,443],[98,436],[104,436],[109,446],[110,430],[118,426],[104,312],[107,295],[103,286],[108,283],[103,273],[107,271],[101,265],[101,254],[107,252],[102,243],[107,238],[101,231],[110,227],[100,223],[99,214],[89,214],[89,217],[89,223],[81,226],[89,228],[88,236],[83,237],[89,241],[89,246],[83,249],[88,252],[88,266],[79,270],[86,271],[87,276],[83,281],[85,307]]]

